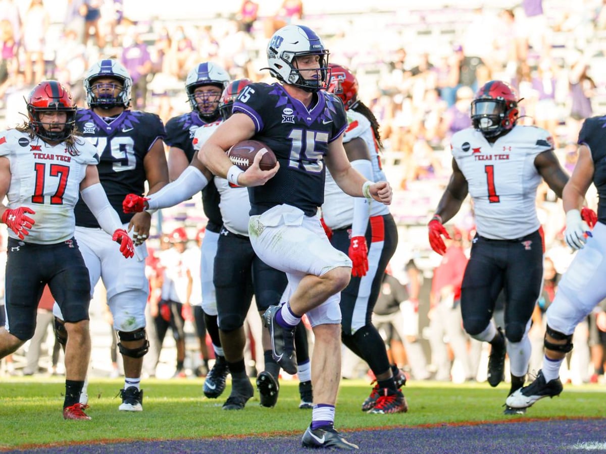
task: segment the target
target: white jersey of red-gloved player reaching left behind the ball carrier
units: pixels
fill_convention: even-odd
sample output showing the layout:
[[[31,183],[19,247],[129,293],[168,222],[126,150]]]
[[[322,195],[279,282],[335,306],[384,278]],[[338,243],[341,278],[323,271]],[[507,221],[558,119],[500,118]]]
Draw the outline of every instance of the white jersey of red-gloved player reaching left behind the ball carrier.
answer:
[[[193,138],[194,150],[200,150],[200,147],[221,123],[218,121],[199,127]],[[223,226],[232,233],[248,236],[248,212],[250,212],[248,189],[232,185],[221,177],[215,177],[215,186],[221,194],[219,209],[223,218]]]

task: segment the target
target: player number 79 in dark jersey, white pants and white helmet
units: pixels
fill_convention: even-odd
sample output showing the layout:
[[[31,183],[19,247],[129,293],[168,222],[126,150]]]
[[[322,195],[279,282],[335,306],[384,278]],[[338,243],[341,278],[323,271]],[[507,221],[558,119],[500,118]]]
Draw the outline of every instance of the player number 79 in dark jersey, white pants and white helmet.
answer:
[[[147,239],[151,225],[148,212],[135,215],[122,212],[122,200],[130,193],[142,194],[145,182],[153,193],[168,183],[164,154],[164,125],[156,114],[129,109],[133,81],[126,68],[113,59],[102,59],[88,70],[84,78],[87,104],[79,109],[76,126],[88,142],[96,146],[101,185],[124,229],[135,240],[135,258],[116,266],[116,252],[111,238],[99,229],[92,212],[79,200],[76,205],[76,240],[88,268],[90,286],[99,278],[107,289],[107,304],[112,312],[113,327],[118,332],[118,349],[124,361],[124,388],[120,390],[119,410],[140,412],[143,390],[140,387],[143,357],[149,348],[145,332],[145,306],[149,284],[145,277]],[[57,306],[53,309],[56,335],[65,340]]]

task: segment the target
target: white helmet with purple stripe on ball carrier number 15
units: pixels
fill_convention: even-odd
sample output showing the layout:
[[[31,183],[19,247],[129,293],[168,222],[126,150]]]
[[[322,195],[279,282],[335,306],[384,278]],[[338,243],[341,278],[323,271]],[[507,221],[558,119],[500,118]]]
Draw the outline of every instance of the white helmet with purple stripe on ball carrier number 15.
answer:
[[[295,58],[303,55],[318,54],[320,68],[318,78],[305,79],[296,67]],[[315,31],[303,25],[286,25],[271,37],[267,45],[267,63],[271,75],[285,84],[296,85],[305,91],[318,91],[326,88],[330,68],[328,68],[328,49]]]

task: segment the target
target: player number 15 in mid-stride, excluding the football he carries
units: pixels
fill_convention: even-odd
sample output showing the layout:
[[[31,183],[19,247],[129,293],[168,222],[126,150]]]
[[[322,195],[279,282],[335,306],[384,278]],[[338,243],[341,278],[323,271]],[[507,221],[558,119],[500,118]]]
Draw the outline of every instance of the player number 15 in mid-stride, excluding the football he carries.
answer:
[[[268,43],[267,58],[271,75],[281,83],[245,87],[233,114],[202,145],[198,159],[230,183],[249,187],[253,249],[267,265],[287,274],[289,300],[264,315],[273,357],[286,372],[297,370],[295,327],[304,314],[312,326],[313,410],[302,444],[357,449],[334,427],[341,378],[339,292],[349,283],[351,260],[330,245],[318,207],[324,202],[325,166],[353,197],[388,205],[391,187],[368,181],[347,159],[342,143],[347,117],[341,100],[322,90],[330,68],[318,35],[302,25],[282,27]],[[265,143],[278,165],[267,171],[258,159],[246,171],[232,165],[225,151],[246,139]]]

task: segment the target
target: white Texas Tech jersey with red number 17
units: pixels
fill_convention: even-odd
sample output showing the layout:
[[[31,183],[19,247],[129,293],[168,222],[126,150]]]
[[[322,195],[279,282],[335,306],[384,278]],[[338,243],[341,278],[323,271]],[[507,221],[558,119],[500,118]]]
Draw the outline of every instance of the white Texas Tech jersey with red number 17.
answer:
[[[87,166],[99,163],[96,147],[86,140],[78,138],[74,148],[77,154],[64,142],[52,146],[18,130],[0,133],[0,156],[10,160],[8,207],[36,212],[30,215],[36,223],[25,237],[28,243],[55,244],[73,236],[80,183]],[[8,235],[18,239],[10,229]]]

